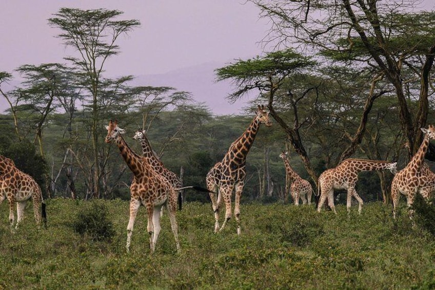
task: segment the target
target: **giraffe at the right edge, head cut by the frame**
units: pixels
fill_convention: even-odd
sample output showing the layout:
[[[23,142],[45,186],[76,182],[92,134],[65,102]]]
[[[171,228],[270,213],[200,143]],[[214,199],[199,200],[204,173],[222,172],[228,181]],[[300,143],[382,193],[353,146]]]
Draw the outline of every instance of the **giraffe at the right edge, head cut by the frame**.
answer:
[[[424,163],[424,156],[430,140],[435,139],[435,127],[421,128],[424,138],[417,152],[405,168],[394,176],[391,182],[391,199],[393,202],[393,218],[396,218],[396,209],[399,204],[400,194],[406,197],[408,207],[414,202],[416,194],[420,193],[425,199],[435,191],[435,174]],[[412,217],[412,211],[409,212]]]

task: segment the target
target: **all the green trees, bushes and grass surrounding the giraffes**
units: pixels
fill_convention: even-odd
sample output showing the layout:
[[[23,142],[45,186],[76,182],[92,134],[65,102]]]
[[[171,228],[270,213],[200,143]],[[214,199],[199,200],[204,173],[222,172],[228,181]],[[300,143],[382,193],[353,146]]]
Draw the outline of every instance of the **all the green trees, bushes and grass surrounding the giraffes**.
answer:
[[[417,151],[420,128],[434,124],[435,12],[411,1],[249,1],[271,20],[263,41],[274,50],[216,68],[231,80],[229,101],[259,94],[244,115],[211,114],[189,92],[131,86],[134,76],[105,77],[121,51],[117,38],[137,28],[117,10],[62,8],[49,24],[74,51],[65,63],[24,64],[0,71],[0,154],[33,176],[47,202],[48,229],[26,219],[11,235],[0,206],[0,287],[3,288],[433,288],[433,203],[418,203],[414,224],[402,208],[391,216],[391,173],[363,172],[357,191],[363,214],[338,215],[287,204],[284,164],[317,188],[326,168],[345,158],[397,161]],[[69,50],[68,50],[69,51]],[[11,89],[6,84],[21,82]],[[181,254],[169,221],[149,256],[140,211],[132,253],[125,253],[131,172],[113,144],[109,119],[139,128],[184,185],[204,187],[207,171],[224,156],[264,104],[273,126],[261,127],[247,158],[242,235],[234,224],[213,234],[207,195],[186,191],[177,212]],[[426,161],[435,161],[432,145]],[[338,192],[337,199],[344,195]],[[404,204],[403,204],[404,205]]]

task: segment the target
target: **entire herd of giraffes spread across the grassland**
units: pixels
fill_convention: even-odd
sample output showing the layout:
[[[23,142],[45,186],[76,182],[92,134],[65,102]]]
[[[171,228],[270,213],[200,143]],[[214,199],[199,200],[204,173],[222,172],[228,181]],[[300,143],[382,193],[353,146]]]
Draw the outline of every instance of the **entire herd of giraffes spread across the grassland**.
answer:
[[[240,235],[240,198],[246,177],[246,156],[261,124],[267,127],[272,125],[269,119],[269,112],[265,110],[264,106],[258,106],[255,117],[248,128],[230,145],[222,161],[217,162],[209,170],[205,179],[207,184],[207,189],[205,189],[196,186],[182,187],[182,183],[176,174],[168,170],[160,159],[157,158],[146,137],[146,132],[142,129],[136,131],[133,137],[133,139],[141,142],[143,149],[142,156],[136,154],[122,137],[125,130],[118,127],[116,120],[110,120],[109,125],[106,126],[107,136],[105,142],[111,143],[113,141],[117,145],[121,156],[133,173],[133,181],[130,186],[130,217],[127,225],[127,252],[130,249],[137,210],[141,205],[144,205],[147,210],[147,231],[151,253],[155,250],[157,238],[161,230],[160,218],[164,206],[168,212],[176,248],[180,251],[175,213],[177,201],[181,209],[181,190],[185,188],[194,188],[208,192],[214,211],[215,233],[223,230],[231,219],[231,196],[232,192],[235,191],[234,216],[237,234]],[[431,192],[435,191],[435,173],[431,172],[429,167],[424,163],[424,156],[430,140],[435,139],[435,127],[429,125],[428,129],[422,128],[422,131],[425,135],[419,150],[414,154],[408,165],[399,172],[397,171],[396,162],[365,159],[346,159],[337,167],[325,170],[319,177],[318,191],[314,191],[314,195],[320,195],[317,210],[321,211],[327,199],[329,207],[337,214],[334,207],[333,190],[346,189],[347,209],[349,210],[351,198],[354,197],[359,202],[358,211],[361,213],[363,201],[357,194],[355,185],[358,181],[358,173],[369,170],[389,169],[394,174],[391,184],[394,218],[396,218],[400,194],[406,197],[408,206],[412,204],[416,194],[421,194],[427,199]],[[313,192],[311,184],[302,179],[293,170],[286,152],[282,152],[280,157],[284,161],[286,174],[291,182],[290,190],[294,204],[299,205],[299,199],[302,199],[303,204],[310,204]],[[45,203],[42,198],[41,188],[39,188],[33,178],[16,168],[12,160],[0,156],[0,203],[6,198],[10,205],[9,220],[11,228],[14,224],[14,203],[17,203],[16,228],[23,217],[25,203],[30,198],[33,200],[36,222],[39,224],[43,220],[46,223]],[[220,226],[219,211],[222,201],[225,202],[225,219],[222,226]]]

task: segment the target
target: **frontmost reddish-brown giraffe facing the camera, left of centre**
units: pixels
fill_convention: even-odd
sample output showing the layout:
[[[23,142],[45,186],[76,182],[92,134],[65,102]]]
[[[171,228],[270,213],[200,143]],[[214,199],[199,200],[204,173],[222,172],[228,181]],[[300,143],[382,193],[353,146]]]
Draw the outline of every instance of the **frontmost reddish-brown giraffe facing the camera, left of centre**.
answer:
[[[172,185],[145,162],[145,159],[134,153],[125,142],[121,134],[124,129],[118,127],[117,120],[109,121],[106,126],[106,143],[114,141],[121,151],[124,161],[133,172],[133,182],[130,186],[130,219],[127,225],[127,252],[130,252],[131,235],[133,233],[134,220],[137,210],[144,205],[147,209],[148,224],[147,231],[150,235],[151,253],[155,250],[157,238],[160,233],[160,210],[166,204],[172,232],[175,237],[176,248],[180,252],[180,242],[178,238],[178,225],[175,219],[176,194]]]

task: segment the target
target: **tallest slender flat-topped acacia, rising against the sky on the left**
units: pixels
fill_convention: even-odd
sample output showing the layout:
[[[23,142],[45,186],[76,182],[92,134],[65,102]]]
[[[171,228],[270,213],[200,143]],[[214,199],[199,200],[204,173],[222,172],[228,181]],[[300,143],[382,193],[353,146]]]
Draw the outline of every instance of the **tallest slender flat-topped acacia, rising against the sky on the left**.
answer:
[[[78,52],[78,56],[65,59],[80,71],[82,85],[90,94],[94,197],[100,197],[101,164],[98,158],[101,144],[99,129],[102,124],[98,121],[101,99],[105,97],[102,73],[109,57],[120,52],[120,47],[116,45],[118,37],[140,25],[137,20],[115,20],[121,14],[123,12],[118,10],[61,8],[48,20],[52,27],[62,30],[58,37],[62,38],[65,45]]]

